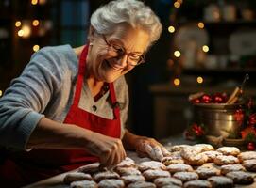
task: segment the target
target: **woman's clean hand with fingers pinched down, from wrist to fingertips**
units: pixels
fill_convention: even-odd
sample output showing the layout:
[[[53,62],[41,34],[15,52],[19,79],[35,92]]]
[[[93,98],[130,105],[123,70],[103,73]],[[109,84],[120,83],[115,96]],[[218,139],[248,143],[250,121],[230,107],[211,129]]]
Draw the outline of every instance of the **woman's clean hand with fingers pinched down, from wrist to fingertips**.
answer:
[[[101,166],[119,164],[127,156],[122,141],[100,133],[92,133],[86,150],[99,158]]]

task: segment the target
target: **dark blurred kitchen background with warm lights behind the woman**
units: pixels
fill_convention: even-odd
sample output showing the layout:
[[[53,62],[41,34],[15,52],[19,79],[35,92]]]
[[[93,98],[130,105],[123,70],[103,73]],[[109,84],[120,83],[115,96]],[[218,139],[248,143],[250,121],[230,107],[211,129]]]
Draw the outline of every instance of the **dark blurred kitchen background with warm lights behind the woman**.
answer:
[[[0,90],[43,46],[83,45],[91,13],[103,0],[1,0]],[[230,93],[246,73],[256,96],[255,0],[145,0],[162,37],[146,64],[127,75],[128,129],[163,138],[182,133],[193,116],[188,95]]]

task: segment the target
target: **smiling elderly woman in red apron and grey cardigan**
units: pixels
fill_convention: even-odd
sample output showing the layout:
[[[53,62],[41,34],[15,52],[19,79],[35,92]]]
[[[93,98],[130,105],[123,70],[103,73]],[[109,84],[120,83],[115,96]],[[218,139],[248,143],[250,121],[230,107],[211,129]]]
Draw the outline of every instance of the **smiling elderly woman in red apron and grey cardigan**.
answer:
[[[111,1],[92,15],[88,44],[32,55],[0,101],[0,144],[9,150],[2,182],[21,185],[96,161],[111,166],[125,149],[154,160],[168,154],[156,140],[125,129],[124,74],[145,62],[161,30],[144,3]]]

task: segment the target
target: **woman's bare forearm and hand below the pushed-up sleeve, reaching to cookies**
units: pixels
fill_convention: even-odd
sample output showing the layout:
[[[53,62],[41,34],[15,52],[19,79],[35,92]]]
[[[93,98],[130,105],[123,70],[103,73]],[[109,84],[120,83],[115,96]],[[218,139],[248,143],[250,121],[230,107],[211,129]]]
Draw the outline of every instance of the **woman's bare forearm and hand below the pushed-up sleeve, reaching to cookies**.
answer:
[[[122,141],[73,124],[42,118],[31,134],[27,149],[85,149],[102,166],[119,164],[126,158]]]

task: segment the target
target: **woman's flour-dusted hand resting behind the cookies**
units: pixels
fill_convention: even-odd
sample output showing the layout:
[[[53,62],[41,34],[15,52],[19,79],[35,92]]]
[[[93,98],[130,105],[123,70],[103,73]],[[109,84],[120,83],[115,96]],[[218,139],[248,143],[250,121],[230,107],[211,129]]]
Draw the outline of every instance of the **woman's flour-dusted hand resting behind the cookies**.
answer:
[[[154,138],[139,136],[134,147],[140,157],[150,157],[156,161],[161,161],[162,157],[170,155],[170,152]]]

